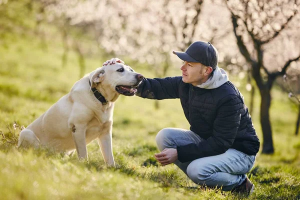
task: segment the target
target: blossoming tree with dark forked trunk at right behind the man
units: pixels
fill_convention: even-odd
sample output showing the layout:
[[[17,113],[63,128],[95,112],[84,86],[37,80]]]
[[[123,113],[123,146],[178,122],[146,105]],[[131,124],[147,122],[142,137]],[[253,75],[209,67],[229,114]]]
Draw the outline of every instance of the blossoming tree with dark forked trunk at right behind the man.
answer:
[[[300,0],[224,0],[231,13],[233,32],[240,53],[251,65],[261,96],[260,123],[263,153],[273,153],[269,121],[270,90],[300,58]]]

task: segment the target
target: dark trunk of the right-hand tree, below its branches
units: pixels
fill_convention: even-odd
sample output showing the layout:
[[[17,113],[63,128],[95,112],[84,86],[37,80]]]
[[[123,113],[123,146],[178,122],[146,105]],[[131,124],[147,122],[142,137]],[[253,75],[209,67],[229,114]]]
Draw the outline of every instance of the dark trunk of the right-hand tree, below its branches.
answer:
[[[262,153],[270,154],[274,152],[272,129],[269,120],[269,108],[271,102],[270,88],[260,89],[260,124],[262,129]]]

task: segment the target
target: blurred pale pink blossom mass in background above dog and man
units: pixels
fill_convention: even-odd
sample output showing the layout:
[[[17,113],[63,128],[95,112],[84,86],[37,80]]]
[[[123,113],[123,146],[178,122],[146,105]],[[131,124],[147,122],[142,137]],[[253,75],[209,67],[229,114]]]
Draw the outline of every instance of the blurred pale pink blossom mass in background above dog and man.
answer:
[[[89,35],[105,52],[146,63],[156,77],[166,76],[174,61],[178,64],[172,50],[185,50],[195,40],[216,42],[230,31],[230,21],[224,22],[229,12],[210,0],[44,0],[44,5],[48,18],[60,24],[64,41],[72,27],[81,30],[84,36],[73,41],[79,58],[84,47],[78,43]],[[215,46],[228,43],[230,39]],[[222,57],[220,51],[220,61]]]

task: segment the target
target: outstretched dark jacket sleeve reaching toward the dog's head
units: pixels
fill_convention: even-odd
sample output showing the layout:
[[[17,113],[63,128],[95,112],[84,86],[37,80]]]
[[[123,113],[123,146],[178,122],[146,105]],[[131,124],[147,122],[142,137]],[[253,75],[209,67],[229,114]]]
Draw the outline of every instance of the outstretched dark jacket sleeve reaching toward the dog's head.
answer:
[[[181,82],[181,76],[165,78],[143,78],[141,84],[137,87],[135,95],[142,98],[165,99],[179,98],[178,87]]]

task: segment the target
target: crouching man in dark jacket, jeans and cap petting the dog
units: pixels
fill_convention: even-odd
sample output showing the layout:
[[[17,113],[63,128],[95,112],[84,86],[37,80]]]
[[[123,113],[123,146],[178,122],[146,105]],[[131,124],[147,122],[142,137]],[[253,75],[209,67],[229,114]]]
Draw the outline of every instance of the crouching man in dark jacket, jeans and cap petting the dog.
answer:
[[[185,52],[182,76],[143,78],[136,95],[179,98],[190,130],[163,128],[156,135],[162,165],[174,163],[196,184],[250,194],[254,184],[245,175],[259,149],[248,108],[238,89],[217,66],[210,42],[195,41]],[[114,58],[103,64],[122,62]]]

